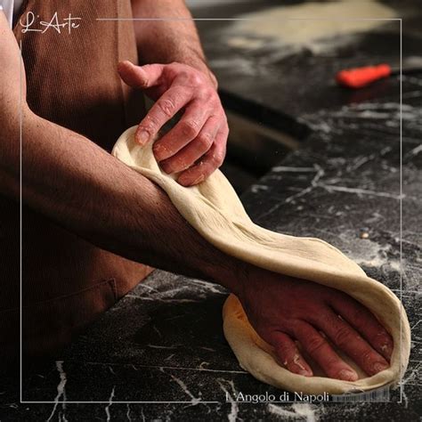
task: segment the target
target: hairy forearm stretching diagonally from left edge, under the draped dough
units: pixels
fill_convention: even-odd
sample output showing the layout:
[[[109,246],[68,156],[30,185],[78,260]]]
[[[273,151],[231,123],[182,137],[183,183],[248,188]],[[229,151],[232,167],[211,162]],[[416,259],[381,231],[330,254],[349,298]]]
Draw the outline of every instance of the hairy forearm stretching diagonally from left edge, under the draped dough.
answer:
[[[4,172],[0,189],[18,198],[13,151],[2,158],[2,168],[16,170]],[[22,196],[29,207],[101,248],[238,290],[244,265],[202,239],[164,191],[93,142],[29,110],[23,125]]]

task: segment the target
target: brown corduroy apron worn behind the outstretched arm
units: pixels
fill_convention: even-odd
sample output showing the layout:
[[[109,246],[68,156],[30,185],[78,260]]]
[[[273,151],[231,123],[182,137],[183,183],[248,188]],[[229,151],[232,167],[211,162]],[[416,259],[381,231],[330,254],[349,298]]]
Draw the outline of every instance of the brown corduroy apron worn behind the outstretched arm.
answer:
[[[37,115],[111,150],[118,135],[139,123],[142,93],[118,77],[118,61],[137,62],[129,0],[28,0],[20,18],[79,17],[77,28],[13,32],[22,43],[28,104]],[[33,28],[40,28],[34,23]],[[25,139],[23,139],[23,149]],[[46,169],[48,171],[48,169]],[[22,169],[23,177],[30,177]],[[81,186],[81,190],[84,187]],[[1,354],[19,345],[19,204],[0,197]],[[104,312],[151,271],[96,248],[28,207],[22,213],[22,332],[24,353],[44,354],[69,343],[78,329]]]

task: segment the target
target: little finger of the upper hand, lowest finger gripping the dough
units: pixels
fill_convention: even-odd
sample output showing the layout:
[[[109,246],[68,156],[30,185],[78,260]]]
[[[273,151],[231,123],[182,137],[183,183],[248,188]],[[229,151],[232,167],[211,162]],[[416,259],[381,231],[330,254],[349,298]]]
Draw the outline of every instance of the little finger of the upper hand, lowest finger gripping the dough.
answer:
[[[191,168],[188,168],[180,174],[177,182],[183,186],[192,186],[203,182],[210,174],[214,173],[215,170],[223,164],[225,157],[225,141],[228,133],[229,129],[227,126],[220,129],[215,136],[213,145],[207,151],[207,154],[199,159],[198,164],[191,166]]]

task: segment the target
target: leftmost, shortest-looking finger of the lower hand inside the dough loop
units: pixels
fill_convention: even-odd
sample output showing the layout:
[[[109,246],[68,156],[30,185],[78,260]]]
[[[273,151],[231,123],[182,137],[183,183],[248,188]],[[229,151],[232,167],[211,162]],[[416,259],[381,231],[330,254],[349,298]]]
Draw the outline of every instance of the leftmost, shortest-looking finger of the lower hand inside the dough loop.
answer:
[[[295,374],[312,377],[311,367],[304,361],[295,342],[287,334],[280,331],[272,332],[269,337],[272,346],[275,349],[280,362]]]

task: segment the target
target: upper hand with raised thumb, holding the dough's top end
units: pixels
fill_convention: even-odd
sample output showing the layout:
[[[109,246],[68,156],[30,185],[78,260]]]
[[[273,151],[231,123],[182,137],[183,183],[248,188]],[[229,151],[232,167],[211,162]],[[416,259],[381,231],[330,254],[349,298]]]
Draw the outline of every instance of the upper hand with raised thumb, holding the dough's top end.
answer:
[[[138,126],[136,142],[152,142],[158,131],[174,115],[183,116],[161,139],[153,151],[166,173],[179,173],[183,186],[201,183],[222,165],[229,128],[215,80],[181,63],[134,66],[119,63],[120,77],[142,89],[155,104]]]

